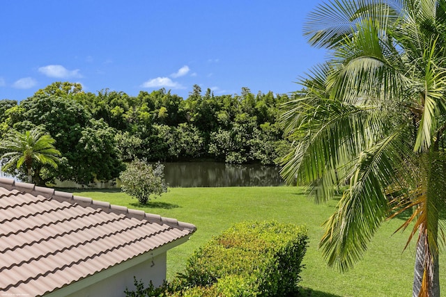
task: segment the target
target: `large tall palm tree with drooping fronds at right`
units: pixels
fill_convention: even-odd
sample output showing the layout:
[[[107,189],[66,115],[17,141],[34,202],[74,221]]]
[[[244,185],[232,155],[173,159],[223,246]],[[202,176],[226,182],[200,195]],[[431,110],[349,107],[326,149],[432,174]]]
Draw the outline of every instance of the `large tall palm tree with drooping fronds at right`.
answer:
[[[351,268],[383,220],[406,211],[408,243],[418,233],[413,296],[440,296],[446,1],[332,0],[309,14],[304,34],[328,60],[284,106],[295,143],[282,175],[316,202],[343,191],[320,243],[328,264]]]

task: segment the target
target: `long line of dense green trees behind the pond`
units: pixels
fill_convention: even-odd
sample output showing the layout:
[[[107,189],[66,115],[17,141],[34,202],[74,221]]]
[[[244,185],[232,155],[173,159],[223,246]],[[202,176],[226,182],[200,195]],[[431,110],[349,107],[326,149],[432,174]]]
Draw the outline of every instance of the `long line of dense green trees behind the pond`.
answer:
[[[254,95],[248,88],[216,96],[195,85],[183,99],[164,88],[130,96],[55,82],[21,102],[0,100],[0,135],[38,129],[54,138],[61,161],[33,168],[40,184],[113,179],[135,159],[277,165],[291,147],[279,125],[287,101],[288,95]]]

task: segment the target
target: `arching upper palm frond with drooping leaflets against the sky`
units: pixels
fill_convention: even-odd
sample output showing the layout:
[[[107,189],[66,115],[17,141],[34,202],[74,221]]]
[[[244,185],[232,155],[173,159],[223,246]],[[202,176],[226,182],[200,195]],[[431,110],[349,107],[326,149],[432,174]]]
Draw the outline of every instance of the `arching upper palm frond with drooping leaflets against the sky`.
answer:
[[[397,70],[403,62],[392,40],[380,37],[379,29],[368,19],[358,25],[353,38],[333,51],[328,87],[332,97],[353,102],[369,97],[389,99],[401,93],[402,79]]]

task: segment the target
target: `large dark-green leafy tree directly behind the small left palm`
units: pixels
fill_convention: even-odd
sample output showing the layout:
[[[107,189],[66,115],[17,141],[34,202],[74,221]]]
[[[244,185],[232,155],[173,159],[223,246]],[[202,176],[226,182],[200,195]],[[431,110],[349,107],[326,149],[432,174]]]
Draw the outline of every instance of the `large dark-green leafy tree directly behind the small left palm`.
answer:
[[[55,92],[61,93],[58,90]],[[40,127],[56,141],[61,162],[57,168],[45,170],[45,179],[89,184],[94,179],[118,177],[123,163],[114,141],[116,130],[104,120],[93,120],[91,113],[73,99],[79,93],[58,97],[48,92],[39,90],[6,111],[8,127],[20,131]]]

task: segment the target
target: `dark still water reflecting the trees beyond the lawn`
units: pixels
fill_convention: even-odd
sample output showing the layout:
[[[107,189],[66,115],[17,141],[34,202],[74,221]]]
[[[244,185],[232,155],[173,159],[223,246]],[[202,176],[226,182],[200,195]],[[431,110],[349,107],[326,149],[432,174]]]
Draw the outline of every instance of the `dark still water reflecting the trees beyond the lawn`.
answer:
[[[233,165],[216,162],[164,163],[166,182],[172,187],[282,186],[279,168],[260,164]]]

